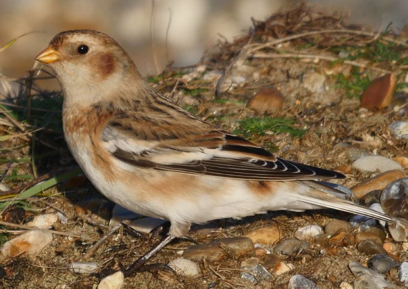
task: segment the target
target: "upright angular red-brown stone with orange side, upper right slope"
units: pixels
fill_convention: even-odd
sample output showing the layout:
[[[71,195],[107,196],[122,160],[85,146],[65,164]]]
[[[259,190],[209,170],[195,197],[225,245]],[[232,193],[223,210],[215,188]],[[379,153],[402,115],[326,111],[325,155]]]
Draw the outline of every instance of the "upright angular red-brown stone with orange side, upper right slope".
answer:
[[[387,107],[396,85],[397,77],[392,73],[374,79],[361,95],[361,106],[368,109]]]

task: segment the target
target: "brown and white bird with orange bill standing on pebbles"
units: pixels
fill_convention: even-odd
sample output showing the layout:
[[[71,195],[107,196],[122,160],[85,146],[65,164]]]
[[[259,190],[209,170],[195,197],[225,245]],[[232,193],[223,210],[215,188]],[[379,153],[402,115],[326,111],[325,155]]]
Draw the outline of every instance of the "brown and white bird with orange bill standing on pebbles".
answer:
[[[191,224],[216,219],[331,208],[394,221],[316,182],[344,175],[279,158],[176,105],[107,34],[61,32],[35,59],[58,79],[65,141],[92,184],[126,209],[170,221],[168,235],[135,268]]]

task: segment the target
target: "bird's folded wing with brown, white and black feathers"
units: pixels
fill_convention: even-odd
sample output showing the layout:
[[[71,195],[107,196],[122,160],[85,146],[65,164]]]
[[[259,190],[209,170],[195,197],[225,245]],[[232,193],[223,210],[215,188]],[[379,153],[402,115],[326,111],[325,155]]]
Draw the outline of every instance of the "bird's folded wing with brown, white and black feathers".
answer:
[[[344,178],[334,171],[275,157],[188,113],[163,118],[162,113],[123,111],[108,122],[101,139],[116,159],[151,170],[265,181]]]

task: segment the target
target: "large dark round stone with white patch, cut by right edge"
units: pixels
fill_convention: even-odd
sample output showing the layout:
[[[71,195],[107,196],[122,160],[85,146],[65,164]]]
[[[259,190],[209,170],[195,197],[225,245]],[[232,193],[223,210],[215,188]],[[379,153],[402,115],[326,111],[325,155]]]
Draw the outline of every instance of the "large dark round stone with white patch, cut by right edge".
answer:
[[[408,219],[408,178],[390,183],[382,191],[380,203],[387,214]]]

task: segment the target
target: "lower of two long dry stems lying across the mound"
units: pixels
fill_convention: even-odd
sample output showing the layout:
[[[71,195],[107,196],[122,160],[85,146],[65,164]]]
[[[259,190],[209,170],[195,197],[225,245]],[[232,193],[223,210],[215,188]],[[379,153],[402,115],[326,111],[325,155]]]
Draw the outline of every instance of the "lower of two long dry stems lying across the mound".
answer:
[[[315,58],[327,61],[342,61],[345,64],[362,67],[362,68],[369,68],[372,70],[379,71],[380,73],[391,73],[390,70],[381,69],[375,66],[365,65],[356,61],[352,60],[344,60],[342,58],[328,56],[328,55],[315,55],[315,54],[301,54],[301,53],[256,53],[250,55],[252,58]]]

